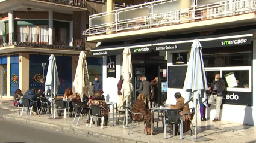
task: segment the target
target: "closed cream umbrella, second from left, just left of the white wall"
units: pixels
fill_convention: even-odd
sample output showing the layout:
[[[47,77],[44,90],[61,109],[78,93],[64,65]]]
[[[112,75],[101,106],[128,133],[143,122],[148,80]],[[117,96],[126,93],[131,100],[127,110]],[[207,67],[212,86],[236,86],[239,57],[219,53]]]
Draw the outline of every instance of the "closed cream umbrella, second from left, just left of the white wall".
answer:
[[[84,53],[84,51],[81,51],[79,55],[73,86],[75,87],[75,92],[80,93],[81,101],[84,94],[89,97],[89,74],[87,68],[86,53]]]

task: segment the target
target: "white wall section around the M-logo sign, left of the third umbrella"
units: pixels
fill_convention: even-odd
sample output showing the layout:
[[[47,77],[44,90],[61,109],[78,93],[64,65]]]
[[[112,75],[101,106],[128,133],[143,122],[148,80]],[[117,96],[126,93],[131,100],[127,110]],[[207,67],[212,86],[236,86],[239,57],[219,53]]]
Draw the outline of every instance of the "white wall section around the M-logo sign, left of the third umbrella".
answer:
[[[122,55],[116,56],[116,78],[107,78],[107,56],[103,56],[103,68],[102,68],[102,82],[103,82],[103,92],[106,101],[109,102],[119,102],[119,96],[117,95],[117,83],[122,75]],[[111,106],[110,106],[111,108]]]

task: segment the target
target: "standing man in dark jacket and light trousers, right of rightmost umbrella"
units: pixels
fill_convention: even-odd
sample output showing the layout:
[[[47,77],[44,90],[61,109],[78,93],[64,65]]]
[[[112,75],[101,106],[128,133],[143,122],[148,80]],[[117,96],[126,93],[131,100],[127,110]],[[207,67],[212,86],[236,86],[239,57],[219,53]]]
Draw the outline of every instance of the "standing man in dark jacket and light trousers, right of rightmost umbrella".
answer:
[[[209,90],[211,90],[211,96],[208,99],[208,103],[216,104],[216,115],[213,121],[219,121],[222,99],[225,92],[225,81],[220,78],[219,74],[215,74],[215,80],[213,80]]]

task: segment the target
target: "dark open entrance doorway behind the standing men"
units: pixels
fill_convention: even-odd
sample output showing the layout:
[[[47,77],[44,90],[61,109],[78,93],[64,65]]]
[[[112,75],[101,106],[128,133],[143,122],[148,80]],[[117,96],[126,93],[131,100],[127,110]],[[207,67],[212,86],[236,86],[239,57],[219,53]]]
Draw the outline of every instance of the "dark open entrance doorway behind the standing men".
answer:
[[[134,57],[133,57],[134,56]],[[136,57],[135,57],[136,56]],[[133,61],[133,94],[131,101],[136,101],[139,93],[136,89],[140,86],[140,76],[146,76],[147,81],[151,82],[158,77],[157,93],[155,93],[153,101],[159,105],[163,105],[166,101],[166,91],[162,92],[162,83],[166,83],[167,77],[163,76],[163,72],[167,69],[167,62],[164,60],[164,56],[160,56],[159,52],[132,54]]]

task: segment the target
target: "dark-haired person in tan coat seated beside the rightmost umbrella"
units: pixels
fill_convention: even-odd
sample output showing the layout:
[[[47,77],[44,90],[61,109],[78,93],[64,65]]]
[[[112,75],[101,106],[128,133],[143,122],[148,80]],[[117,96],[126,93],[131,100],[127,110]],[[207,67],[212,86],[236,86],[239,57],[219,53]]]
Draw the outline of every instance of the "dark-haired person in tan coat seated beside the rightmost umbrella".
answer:
[[[169,108],[171,109],[178,109],[180,111],[183,111],[183,113],[190,113],[189,104],[184,105],[185,99],[181,97],[181,93],[177,92],[174,95],[175,99],[177,100],[176,105],[169,105]],[[180,112],[180,115],[182,112]],[[183,133],[190,130],[190,115],[183,115]],[[192,120],[192,118],[191,118]],[[173,127],[172,127],[173,129]],[[175,127],[175,135],[178,132],[178,127]]]

